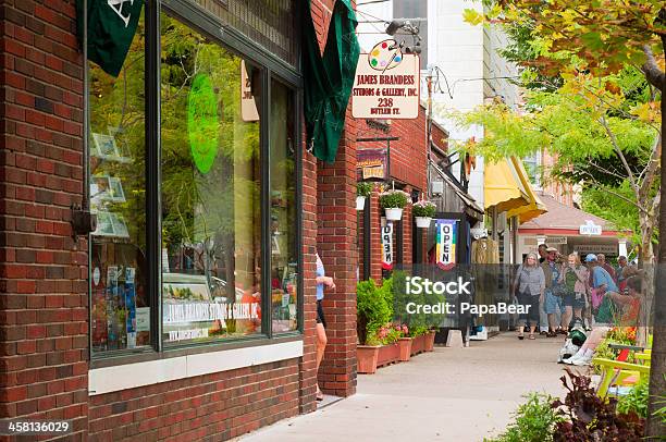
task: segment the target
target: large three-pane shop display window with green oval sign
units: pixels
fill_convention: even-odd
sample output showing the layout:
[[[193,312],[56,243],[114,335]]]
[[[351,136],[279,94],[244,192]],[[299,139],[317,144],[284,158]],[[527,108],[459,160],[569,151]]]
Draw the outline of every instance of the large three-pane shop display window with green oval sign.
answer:
[[[152,13],[88,64],[92,357],[298,333],[298,76]]]

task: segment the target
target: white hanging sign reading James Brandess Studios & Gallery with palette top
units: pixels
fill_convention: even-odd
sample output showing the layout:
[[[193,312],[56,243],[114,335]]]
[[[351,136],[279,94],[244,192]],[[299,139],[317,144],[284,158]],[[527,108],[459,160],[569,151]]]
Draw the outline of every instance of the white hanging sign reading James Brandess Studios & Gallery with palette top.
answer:
[[[403,54],[395,40],[361,54],[351,89],[355,119],[416,119],[419,114],[419,57]]]

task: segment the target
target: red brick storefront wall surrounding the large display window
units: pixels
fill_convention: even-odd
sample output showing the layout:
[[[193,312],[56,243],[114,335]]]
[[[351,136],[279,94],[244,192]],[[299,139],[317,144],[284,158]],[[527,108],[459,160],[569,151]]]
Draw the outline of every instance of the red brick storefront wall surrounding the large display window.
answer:
[[[70,224],[84,179],[74,0],[3,0],[0,17],[0,418],[73,419],[69,440],[192,441],[313,410],[317,165],[309,154],[304,357],[88,397],[88,246],[72,238]]]

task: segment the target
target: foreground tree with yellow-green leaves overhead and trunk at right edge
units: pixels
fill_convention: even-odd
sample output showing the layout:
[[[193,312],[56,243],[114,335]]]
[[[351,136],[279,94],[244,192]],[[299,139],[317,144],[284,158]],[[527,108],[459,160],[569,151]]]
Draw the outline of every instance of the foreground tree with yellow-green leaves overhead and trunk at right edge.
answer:
[[[488,13],[480,16],[466,11],[468,21],[519,22],[534,26],[546,49],[533,65],[553,75],[571,69],[604,76],[626,65],[640,66],[646,81],[661,91],[661,113],[666,110],[666,73],[663,59],[655,51],[666,50],[666,8],[663,0],[484,0]],[[664,134],[664,119],[661,122]],[[654,157],[656,163],[661,156]],[[666,182],[666,159],[662,158],[661,181]],[[657,164],[654,165],[657,168]],[[633,184],[632,184],[633,185]],[[666,188],[659,193],[666,200]],[[661,205],[658,271],[656,279],[654,344],[652,352],[651,404],[648,434],[662,434],[661,422],[652,418],[655,397],[664,394],[666,380],[666,205]]]

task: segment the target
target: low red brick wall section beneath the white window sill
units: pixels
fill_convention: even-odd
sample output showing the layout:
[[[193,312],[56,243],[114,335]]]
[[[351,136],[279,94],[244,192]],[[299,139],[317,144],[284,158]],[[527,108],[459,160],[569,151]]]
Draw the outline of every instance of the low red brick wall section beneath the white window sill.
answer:
[[[227,440],[299,412],[299,364],[283,360],[92,396],[89,440]]]

